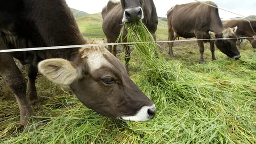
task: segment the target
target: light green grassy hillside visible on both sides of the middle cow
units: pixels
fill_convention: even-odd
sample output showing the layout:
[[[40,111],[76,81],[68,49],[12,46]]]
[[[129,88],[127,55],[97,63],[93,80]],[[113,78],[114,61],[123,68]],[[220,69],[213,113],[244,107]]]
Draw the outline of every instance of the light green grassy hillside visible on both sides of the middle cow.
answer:
[[[82,34],[87,38],[106,38],[102,30],[101,13],[84,15],[76,19],[78,27]],[[167,19],[158,18],[158,26],[156,31],[157,39],[167,39]]]

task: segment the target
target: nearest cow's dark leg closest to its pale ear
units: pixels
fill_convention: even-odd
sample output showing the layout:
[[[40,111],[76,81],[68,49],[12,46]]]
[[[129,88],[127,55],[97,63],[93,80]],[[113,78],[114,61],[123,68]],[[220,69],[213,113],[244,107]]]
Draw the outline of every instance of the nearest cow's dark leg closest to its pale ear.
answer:
[[[34,67],[32,64],[27,64],[25,66],[25,69],[28,75],[27,98],[28,98],[29,104],[34,108],[39,108],[39,101],[37,97],[36,84],[35,84],[38,69]]]

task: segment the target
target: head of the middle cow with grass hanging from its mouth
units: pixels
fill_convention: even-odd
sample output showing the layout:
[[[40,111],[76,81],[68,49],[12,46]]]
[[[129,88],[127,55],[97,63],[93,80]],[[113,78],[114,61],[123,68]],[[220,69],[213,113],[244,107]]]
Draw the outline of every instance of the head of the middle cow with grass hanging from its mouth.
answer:
[[[131,22],[144,18],[142,10],[143,0],[121,0],[124,11],[123,22]]]

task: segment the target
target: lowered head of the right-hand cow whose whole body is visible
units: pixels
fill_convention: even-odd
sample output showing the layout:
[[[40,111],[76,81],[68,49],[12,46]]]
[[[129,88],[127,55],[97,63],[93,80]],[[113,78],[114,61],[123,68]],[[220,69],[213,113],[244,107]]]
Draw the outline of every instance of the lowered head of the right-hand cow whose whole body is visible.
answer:
[[[216,34],[212,31],[209,31],[211,39],[215,38],[234,38],[234,39],[215,39],[215,45],[218,49],[225,53],[230,59],[239,59],[241,57],[241,53],[238,51],[236,47],[237,37],[235,32],[237,27],[234,28],[226,28],[222,31],[222,34]]]

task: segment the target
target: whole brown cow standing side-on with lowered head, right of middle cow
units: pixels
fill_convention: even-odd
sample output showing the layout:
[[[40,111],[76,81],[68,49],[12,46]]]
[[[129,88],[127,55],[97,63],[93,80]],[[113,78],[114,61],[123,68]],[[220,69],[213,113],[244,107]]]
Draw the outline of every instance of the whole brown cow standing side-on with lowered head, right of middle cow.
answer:
[[[206,4],[217,6],[215,3],[206,1]],[[167,12],[169,41],[173,40],[174,32],[180,37],[197,39],[210,39],[210,38],[236,38],[234,28],[224,28],[218,9],[209,5],[199,2],[175,5]],[[215,40],[210,42],[210,49],[212,52],[212,60],[215,60],[214,42],[221,52],[225,53],[230,59],[238,59],[241,57],[240,52],[236,47],[237,39]],[[200,51],[200,63],[204,63],[204,43],[197,41]],[[174,57],[172,46],[173,42],[169,43],[169,54]]]

